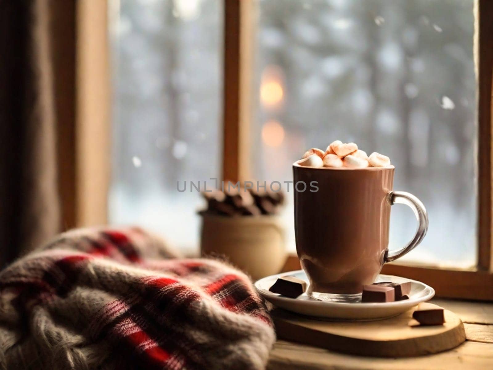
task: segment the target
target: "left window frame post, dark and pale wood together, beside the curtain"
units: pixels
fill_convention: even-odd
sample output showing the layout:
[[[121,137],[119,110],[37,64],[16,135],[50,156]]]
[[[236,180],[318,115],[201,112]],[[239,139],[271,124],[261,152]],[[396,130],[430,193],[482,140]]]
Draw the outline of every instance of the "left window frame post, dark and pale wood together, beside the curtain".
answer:
[[[108,1],[56,1],[51,10],[62,231],[107,222],[110,179]]]

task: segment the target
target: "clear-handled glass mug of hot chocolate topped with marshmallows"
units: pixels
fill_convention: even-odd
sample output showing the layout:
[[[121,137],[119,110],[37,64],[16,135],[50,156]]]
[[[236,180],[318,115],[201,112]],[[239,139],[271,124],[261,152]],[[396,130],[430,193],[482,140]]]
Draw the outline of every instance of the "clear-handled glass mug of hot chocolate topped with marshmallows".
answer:
[[[394,167],[388,157],[373,153],[373,163],[381,166],[370,167],[368,157],[355,155],[357,147],[345,149],[342,157],[337,151],[326,151],[322,156],[322,162],[334,166],[319,166],[312,157],[317,153],[293,164],[296,250],[310,280],[308,294],[317,298],[322,295],[321,299],[324,294],[361,293],[364,285],[375,281],[385,262],[418,245],[427,228],[423,204],[411,194],[392,191]],[[327,155],[334,157],[327,160]],[[348,160],[348,156],[352,158]],[[335,157],[342,166],[335,164]],[[307,158],[316,166],[307,166]],[[311,187],[296,186],[300,182]],[[408,246],[389,254],[393,203],[414,208],[420,227]]]

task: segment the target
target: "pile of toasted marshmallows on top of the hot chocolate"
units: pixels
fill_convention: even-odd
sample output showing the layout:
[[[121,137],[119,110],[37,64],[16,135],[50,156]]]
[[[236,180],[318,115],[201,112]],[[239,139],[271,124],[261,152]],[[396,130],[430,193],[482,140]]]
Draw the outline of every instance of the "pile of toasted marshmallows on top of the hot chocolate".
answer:
[[[336,140],[325,151],[317,148],[307,150],[297,163],[305,167],[388,167],[390,158],[376,151],[368,156],[356,144]]]

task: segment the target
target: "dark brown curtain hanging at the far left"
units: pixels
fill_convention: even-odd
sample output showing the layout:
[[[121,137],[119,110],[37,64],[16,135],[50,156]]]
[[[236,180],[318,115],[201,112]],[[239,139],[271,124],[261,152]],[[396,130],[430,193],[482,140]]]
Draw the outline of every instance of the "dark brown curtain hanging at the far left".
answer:
[[[0,266],[59,231],[49,0],[0,0]]]

